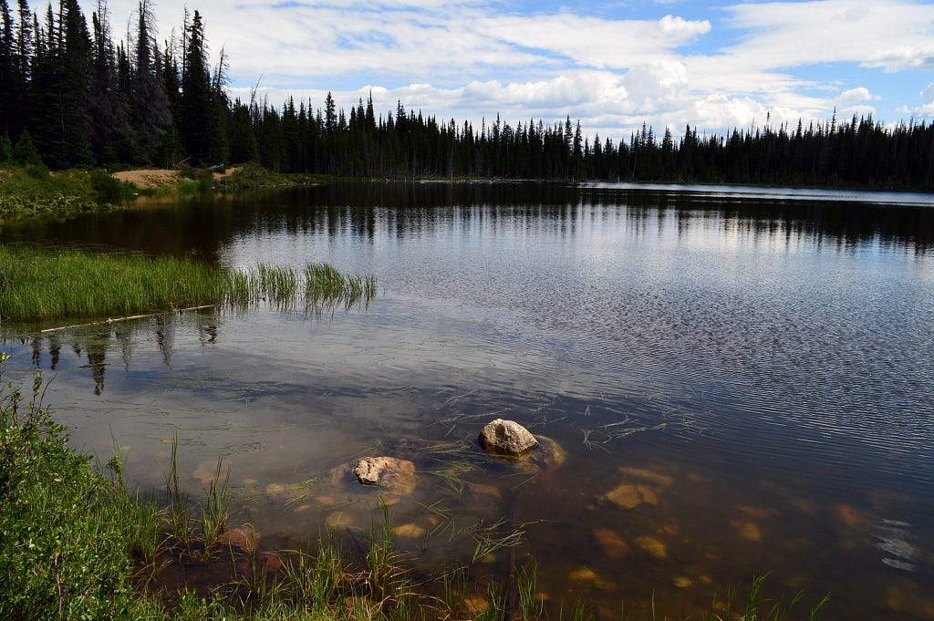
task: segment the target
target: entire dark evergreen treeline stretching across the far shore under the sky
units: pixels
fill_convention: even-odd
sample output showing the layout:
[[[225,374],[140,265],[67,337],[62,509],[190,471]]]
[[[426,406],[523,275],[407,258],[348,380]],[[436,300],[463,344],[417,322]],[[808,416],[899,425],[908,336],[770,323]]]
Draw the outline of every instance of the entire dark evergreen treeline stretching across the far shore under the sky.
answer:
[[[112,163],[176,166],[261,162],[276,172],[341,176],[506,176],[610,180],[848,185],[934,189],[934,125],[888,128],[872,118],[678,140],[646,125],[629,144],[585,138],[570,117],[515,127],[437,120],[399,103],[385,118],[373,100],[349,114],[289,99],[231,101],[221,50],[213,71],[198,11],[182,36],[155,41],[149,0],[134,41],[114,43],[106,0],[91,28],[77,0],[40,17],[26,0],[0,0],[0,161],[55,168]],[[128,39],[130,35],[128,35]],[[16,144],[11,137],[16,137]]]

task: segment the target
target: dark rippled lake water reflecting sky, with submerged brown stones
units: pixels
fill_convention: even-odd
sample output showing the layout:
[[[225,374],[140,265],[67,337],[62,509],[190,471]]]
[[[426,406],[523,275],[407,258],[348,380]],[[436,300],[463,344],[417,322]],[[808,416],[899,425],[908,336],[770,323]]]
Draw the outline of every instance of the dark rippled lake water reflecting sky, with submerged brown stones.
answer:
[[[223,456],[264,549],[365,538],[378,501],[342,464],[389,455],[416,464],[389,515],[426,575],[533,557],[552,604],[618,619],[771,572],[829,618],[934,618],[932,195],[354,184],[0,234],[376,275],[347,311],[2,327],[11,373],[54,369],[73,444],[117,438],[135,484],[163,486],[176,436],[192,494]],[[483,454],[497,417],[563,462]]]

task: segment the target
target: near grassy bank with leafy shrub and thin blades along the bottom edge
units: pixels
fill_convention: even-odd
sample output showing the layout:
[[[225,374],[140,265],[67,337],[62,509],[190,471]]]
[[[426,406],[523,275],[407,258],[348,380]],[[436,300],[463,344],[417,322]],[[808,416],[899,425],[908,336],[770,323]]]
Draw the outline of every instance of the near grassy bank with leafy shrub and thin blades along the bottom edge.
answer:
[[[5,358],[5,357],[0,357]],[[0,366],[2,372],[2,366]],[[227,474],[218,462],[200,499],[178,484],[176,446],[164,500],[128,490],[119,449],[106,467],[68,447],[68,435],[41,405],[42,380],[27,395],[0,388],[0,618],[335,619],[365,621],[588,621],[587,602],[545,600],[534,563],[502,583],[469,583],[469,567],[426,577],[397,554],[389,514],[356,553],[325,535],[304,550],[281,551],[270,572],[250,530],[228,525]],[[238,532],[236,537],[232,536]],[[211,585],[168,587],[165,572],[226,568]],[[764,577],[744,597],[731,591],[699,617],[709,621],[815,619],[797,600],[761,595]],[[183,581],[184,582],[184,581]],[[653,607],[654,609],[654,607]],[[626,613],[621,620],[637,618]],[[550,611],[550,614],[549,614]],[[647,618],[655,619],[655,614]]]

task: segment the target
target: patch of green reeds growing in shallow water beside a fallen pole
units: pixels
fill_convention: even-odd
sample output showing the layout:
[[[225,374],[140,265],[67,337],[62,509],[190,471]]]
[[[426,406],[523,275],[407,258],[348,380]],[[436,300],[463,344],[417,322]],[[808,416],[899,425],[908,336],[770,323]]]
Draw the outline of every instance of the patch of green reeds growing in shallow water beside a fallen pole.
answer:
[[[0,247],[0,318],[120,318],[205,304],[350,306],[375,294],[375,277],[311,263],[227,270],[186,258]]]

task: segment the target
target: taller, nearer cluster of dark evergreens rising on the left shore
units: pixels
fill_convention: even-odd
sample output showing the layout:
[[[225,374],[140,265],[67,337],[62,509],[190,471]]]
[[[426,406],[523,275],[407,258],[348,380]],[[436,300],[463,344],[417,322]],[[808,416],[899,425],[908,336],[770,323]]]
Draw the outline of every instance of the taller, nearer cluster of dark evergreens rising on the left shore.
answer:
[[[78,0],[50,4],[41,17],[26,0],[15,14],[0,0],[0,160],[41,158],[52,168],[226,161],[223,62],[212,78],[201,15],[184,17],[180,40],[160,48],[149,0],[139,3],[135,40],[119,43],[106,0],[97,0],[90,28]]]

